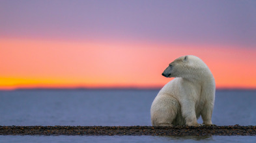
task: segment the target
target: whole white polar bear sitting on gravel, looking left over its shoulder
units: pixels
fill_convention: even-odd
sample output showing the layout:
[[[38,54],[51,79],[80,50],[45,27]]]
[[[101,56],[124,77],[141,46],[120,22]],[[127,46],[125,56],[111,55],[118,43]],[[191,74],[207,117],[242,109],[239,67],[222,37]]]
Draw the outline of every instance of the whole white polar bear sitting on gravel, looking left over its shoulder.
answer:
[[[215,81],[207,65],[196,56],[182,56],[162,75],[175,79],[164,85],[151,105],[152,126],[211,125]],[[197,123],[200,115],[203,124]]]

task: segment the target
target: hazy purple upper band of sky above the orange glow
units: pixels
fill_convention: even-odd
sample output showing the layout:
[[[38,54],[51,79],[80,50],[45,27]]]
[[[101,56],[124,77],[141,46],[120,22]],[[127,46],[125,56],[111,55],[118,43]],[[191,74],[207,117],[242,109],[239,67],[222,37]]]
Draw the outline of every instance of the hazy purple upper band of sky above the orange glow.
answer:
[[[256,46],[256,1],[0,1],[0,38]]]

